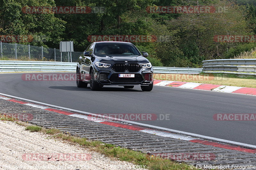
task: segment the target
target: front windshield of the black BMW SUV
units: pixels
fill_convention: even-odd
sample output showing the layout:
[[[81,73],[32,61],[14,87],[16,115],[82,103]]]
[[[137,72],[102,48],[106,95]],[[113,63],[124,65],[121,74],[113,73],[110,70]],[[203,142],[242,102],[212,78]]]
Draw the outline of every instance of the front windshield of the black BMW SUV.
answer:
[[[132,44],[127,43],[100,43],[96,44],[94,54],[108,55],[140,55]]]

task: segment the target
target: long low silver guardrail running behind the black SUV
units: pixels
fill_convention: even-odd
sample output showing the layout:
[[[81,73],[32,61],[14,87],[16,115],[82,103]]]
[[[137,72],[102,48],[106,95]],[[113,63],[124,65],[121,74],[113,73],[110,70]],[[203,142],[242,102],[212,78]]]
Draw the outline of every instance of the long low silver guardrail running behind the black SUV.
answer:
[[[0,61],[0,72],[54,72],[54,71],[76,71],[76,63],[47,62],[47,61]],[[180,67],[153,67],[154,73],[163,74],[199,74],[202,68],[180,68]]]

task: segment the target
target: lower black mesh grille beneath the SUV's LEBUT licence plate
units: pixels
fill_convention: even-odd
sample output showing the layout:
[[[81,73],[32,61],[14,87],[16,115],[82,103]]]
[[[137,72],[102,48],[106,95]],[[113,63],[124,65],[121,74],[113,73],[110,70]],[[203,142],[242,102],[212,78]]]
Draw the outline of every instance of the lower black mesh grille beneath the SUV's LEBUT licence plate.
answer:
[[[113,83],[141,83],[143,78],[140,74],[135,74],[134,78],[118,77],[117,73],[114,73],[109,78],[109,81]]]

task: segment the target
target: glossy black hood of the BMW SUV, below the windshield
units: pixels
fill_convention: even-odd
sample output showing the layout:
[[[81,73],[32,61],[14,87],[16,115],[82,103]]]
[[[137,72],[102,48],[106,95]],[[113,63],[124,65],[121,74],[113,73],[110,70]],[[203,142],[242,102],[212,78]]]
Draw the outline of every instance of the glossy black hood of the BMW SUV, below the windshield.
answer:
[[[97,55],[100,62],[105,63],[148,63],[148,59],[141,55]],[[127,62],[124,62],[127,61]]]

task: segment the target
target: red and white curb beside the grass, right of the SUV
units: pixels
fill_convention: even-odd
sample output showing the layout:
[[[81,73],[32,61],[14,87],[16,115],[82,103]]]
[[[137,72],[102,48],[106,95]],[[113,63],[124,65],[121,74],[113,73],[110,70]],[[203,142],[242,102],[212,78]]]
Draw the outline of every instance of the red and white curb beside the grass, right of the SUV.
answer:
[[[229,93],[237,93],[237,94],[256,95],[256,88],[250,88],[250,87],[212,85],[212,84],[181,82],[181,81],[168,81],[168,80],[154,80],[154,85],[172,86],[172,87],[180,87],[180,88],[188,88],[188,89],[209,90],[209,91],[215,91],[215,92],[229,92]]]

